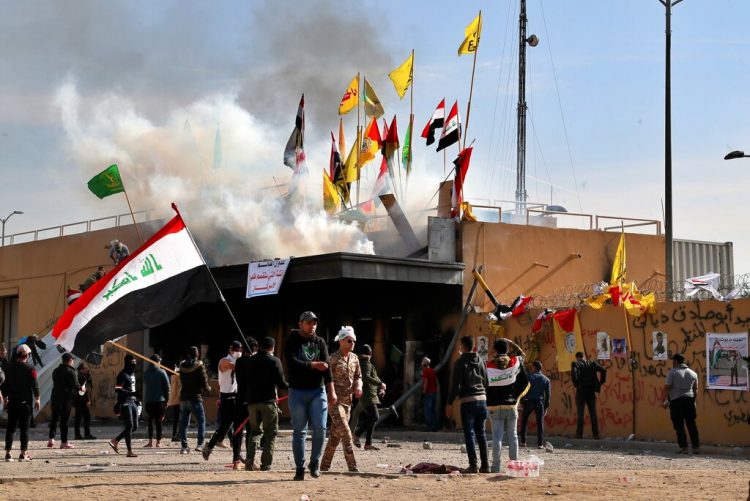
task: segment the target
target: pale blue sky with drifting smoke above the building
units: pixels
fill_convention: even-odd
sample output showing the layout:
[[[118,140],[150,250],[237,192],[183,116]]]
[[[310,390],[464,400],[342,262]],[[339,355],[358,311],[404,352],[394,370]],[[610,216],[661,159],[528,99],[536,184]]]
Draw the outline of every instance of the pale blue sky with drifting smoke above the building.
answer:
[[[117,161],[140,188],[143,179],[129,176],[155,171],[128,174],[123,163],[148,164],[144,145],[158,148],[163,137],[144,131],[182,130],[186,120],[195,141],[181,154],[210,163],[221,124],[222,168],[273,186],[290,174],[281,149],[302,92],[319,173],[358,71],[403,134],[408,99],[399,101],[386,74],[412,48],[416,127],[443,97],[449,106],[458,99],[465,119],[471,58],[456,49],[480,8],[466,198],[511,200],[517,0],[0,0],[0,217],[25,212],[6,233],[125,212],[121,197],[97,200],[86,181]],[[531,201],[662,219],[664,11],[658,0],[529,0],[528,33],[540,39],[527,55]],[[686,0],[672,20],[674,236],[734,242],[737,273],[750,272],[750,159],[722,158],[750,150],[747,19],[747,1]],[[345,120],[351,144],[356,117]],[[414,157],[433,190],[443,155],[420,143]],[[140,199],[135,191],[137,207],[154,203],[153,189]],[[179,198],[179,187],[168,191]]]

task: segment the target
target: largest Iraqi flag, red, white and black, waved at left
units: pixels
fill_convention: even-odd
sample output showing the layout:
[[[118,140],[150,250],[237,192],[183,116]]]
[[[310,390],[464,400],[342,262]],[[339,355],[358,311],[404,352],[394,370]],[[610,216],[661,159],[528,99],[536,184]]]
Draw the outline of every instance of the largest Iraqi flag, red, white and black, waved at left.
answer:
[[[71,304],[55,323],[55,344],[84,357],[105,342],[222,299],[179,213]]]

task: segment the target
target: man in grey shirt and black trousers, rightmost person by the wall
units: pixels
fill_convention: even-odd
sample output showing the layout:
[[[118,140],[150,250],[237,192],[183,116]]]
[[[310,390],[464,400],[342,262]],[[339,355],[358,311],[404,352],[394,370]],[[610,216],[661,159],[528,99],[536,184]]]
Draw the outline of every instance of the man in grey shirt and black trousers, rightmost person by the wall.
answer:
[[[688,454],[685,427],[690,434],[693,454],[698,454],[700,441],[698,427],[695,424],[695,398],[698,395],[698,375],[685,364],[685,357],[680,353],[672,357],[672,368],[667,373],[664,384],[664,407],[669,408],[672,425],[677,433],[677,444],[680,454]]]

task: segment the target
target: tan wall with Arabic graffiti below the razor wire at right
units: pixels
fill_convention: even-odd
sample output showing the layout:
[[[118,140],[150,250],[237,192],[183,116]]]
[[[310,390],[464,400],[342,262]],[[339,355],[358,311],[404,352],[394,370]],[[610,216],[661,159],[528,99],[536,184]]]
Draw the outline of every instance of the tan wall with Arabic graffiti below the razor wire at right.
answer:
[[[522,347],[528,347],[532,318],[530,311],[503,323],[505,336]],[[583,343],[588,358],[596,358],[596,333],[607,332],[611,338],[627,338],[626,320],[621,308],[605,306],[595,311],[584,307],[579,314]],[[635,372],[628,359],[602,361],[607,368],[607,383],[599,394],[597,414],[603,437],[675,441],[669,411],[661,407],[662,387],[671,361],[655,361],[651,348],[652,332],[667,334],[671,353],[682,353],[689,366],[698,373],[698,429],[707,444],[750,446],[750,393],[739,390],[706,388],[706,332],[743,333],[750,328],[750,300],[730,303],[719,301],[657,304],[656,315],[628,317],[630,339],[637,361]],[[487,336],[494,340],[484,314],[471,314],[463,334]],[[454,358],[458,356],[458,350]],[[552,380],[552,400],[545,417],[545,430],[551,435],[573,435],[576,426],[575,389],[570,372],[559,371],[552,325],[545,324],[541,333],[541,356],[544,373]],[[457,416],[455,416],[457,417]],[[532,419],[533,421],[533,419]],[[536,433],[536,428],[530,426]],[[530,432],[531,433],[531,432]],[[586,418],[584,436],[591,435]],[[533,435],[532,435],[533,436]]]

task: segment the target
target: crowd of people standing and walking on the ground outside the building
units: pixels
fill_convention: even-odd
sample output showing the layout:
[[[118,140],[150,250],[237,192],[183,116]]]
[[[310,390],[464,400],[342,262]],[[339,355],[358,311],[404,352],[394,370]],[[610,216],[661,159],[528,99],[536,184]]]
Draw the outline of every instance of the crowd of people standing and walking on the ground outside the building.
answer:
[[[211,387],[207,367],[200,359],[198,348],[190,347],[186,358],[175,370],[162,366],[158,354],[151,356],[143,373],[145,406],[141,403],[136,384],[137,359],[127,354],[113,389],[116,395],[113,411],[122,421],[123,428],[109,441],[110,447],[119,454],[120,443],[124,440],[127,456],[137,457],[133,449],[133,433],[138,429],[142,411],[145,411],[148,425],[148,442],[144,447],[163,447],[162,422],[171,414],[172,442],[180,442],[181,454],[190,454],[195,450],[208,461],[215,447],[226,447],[225,439],[228,438],[233,469],[267,471],[273,465],[281,413],[279,402],[288,399],[294,480],[304,480],[308,471],[314,478],[319,477],[321,471],[328,471],[339,444],[348,470],[358,472],[354,450],[355,447],[362,447],[361,438],[365,438],[366,451],[379,450],[373,444],[373,431],[379,420],[378,404],[386,392],[386,384],[378,377],[372,363],[372,348],[365,344],[356,349],[357,336],[352,327],[344,326],[339,330],[334,340],[338,350],[329,355],[328,344],[316,333],[317,324],[318,317],[312,311],[300,315],[298,328],[291,331],[284,343],[286,375],[281,360],[275,355],[276,343],[273,338],[262,338],[260,342],[246,338],[243,339],[244,343],[230,343],[227,355],[217,366],[218,419],[216,430],[207,443],[203,396],[211,392]],[[40,407],[35,369],[36,365],[41,366],[36,348],[45,348],[40,345],[43,343],[34,336],[23,338],[13,350],[10,360],[6,347],[0,346],[0,398],[8,414],[6,461],[14,460],[12,449],[17,430],[20,433],[20,454],[17,459],[30,460],[29,426],[34,412],[39,411]],[[486,357],[480,356],[475,349],[472,336],[462,337],[460,347],[460,356],[452,367],[445,414],[448,419],[454,416],[453,405],[458,400],[457,410],[461,416],[469,462],[469,466],[462,471],[499,472],[503,442],[507,445],[509,459],[518,459],[519,447],[526,447],[527,429],[532,417],[536,422],[537,447],[545,448],[544,416],[550,405],[551,383],[543,374],[542,363],[533,361],[527,371],[524,351],[504,338],[494,341]],[[684,431],[687,426],[692,450],[697,453],[697,376],[684,362],[682,355],[673,357],[674,368],[664,386],[664,405],[670,408],[680,452],[689,451]],[[436,409],[438,381],[431,364],[429,358],[422,359],[421,389],[427,430],[437,431],[441,428]],[[86,362],[81,362],[77,368],[74,366],[75,357],[66,352],[52,373],[47,447],[55,446],[58,425],[60,448],[74,447],[68,437],[73,410],[75,439],[96,438],[91,434],[91,371]],[[167,371],[172,373],[171,379]],[[571,366],[571,380],[576,390],[578,412],[576,438],[583,436],[584,414],[588,408],[592,435],[598,439],[596,399],[606,382],[606,370],[597,362],[586,360],[584,354],[579,352]],[[280,398],[279,390],[286,390],[287,396]],[[353,399],[358,400],[356,409],[353,409]],[[170,410],[171,413],[168,412]],[[194,449],[188,444],[191,417],[197,422]],[[492,425],[491,457],[485,433],[488,420]],[[329,421],[330,433],[324,449]],[[306,462],[308,430],[312,433],[312,440]],[[245,458],[242,456],[243,436],[246,437]]]

